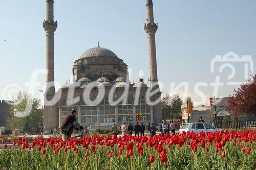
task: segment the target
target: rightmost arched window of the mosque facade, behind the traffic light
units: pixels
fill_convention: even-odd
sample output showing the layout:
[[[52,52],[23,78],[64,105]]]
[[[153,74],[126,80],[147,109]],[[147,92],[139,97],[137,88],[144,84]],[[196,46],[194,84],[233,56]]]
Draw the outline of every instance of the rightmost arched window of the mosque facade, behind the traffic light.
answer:
[[[146,103],[146,98],[141,95],[139,98],[138,105],[136,106],[136,114],[141,114],[141,122],[143,124],[152,123],[151,122],[151,107]]]

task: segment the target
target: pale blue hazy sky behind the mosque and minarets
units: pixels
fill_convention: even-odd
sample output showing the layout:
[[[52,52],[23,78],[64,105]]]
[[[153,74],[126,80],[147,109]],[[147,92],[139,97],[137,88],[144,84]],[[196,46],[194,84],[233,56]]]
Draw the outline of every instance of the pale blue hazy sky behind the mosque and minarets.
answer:
[[[187,84],[188,95],[195,101],[200,94],[229,96],[238,86],[227,82],[246,81],[245,62],[231,62],[232,66],[222,71],[219,69],[223,63],[219,62],[214,65],[215,72],[211,72],[210,63],[216,55],[224,56],[228,52],[256,56],[256,1],[155,0],[153,3],[158,23],[158,80],[163,95],[184,96],[185,89],[175,87]],[[0,100],[11,100],[20,89],[29,92],[26,82],[32,73],[46,68],[46,37],[42,28],[46,1],[0,0],[0,11]],[[130,82],[139,78],[147,82],[144,0],[55,0],[54,19],[58,22],[55,32],[57,88],[71,79],[74,61],[96,47],[97,41],[128,65]],[[255,58],[251,61],[255,62]],[[231,67],[236,72],[228,80]],[[252,68],[256,70],[255,64]],[[211,83],[218,77],[223,86],[216,93]],[[37,81],[40,85],[32,95],[43,99],[39,90],[46,76],[41,74]],[[208,98],[197,100],[197,104],[200,103],[207,104]]]

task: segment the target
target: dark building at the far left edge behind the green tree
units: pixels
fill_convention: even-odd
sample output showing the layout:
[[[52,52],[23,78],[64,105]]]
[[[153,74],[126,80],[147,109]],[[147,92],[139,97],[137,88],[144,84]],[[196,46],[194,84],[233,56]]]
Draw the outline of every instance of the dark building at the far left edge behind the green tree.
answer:
[[[7,124],[7,119],[9,118],[9,111],[10,111],[10,107],[12,102],[10,101],[5,101],[2,100],[0,101],[0,127],[6,127]]]

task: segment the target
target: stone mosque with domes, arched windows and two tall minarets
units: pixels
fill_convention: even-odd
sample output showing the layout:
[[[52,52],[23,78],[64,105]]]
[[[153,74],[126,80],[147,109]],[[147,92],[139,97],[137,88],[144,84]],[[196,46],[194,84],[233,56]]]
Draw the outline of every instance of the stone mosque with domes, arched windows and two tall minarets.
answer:
[[[66,82],[57,91],[54,87],[54,32],[57,29],[57,21],[53,19],[54,1],[47,0],[46,4],[47,15],[43,22],[46,31],[48,70],[44,106],[45,132],[49,132],[51,128],[59,128],[72,109],[78,111],[77,119],[82,126],[105,128],[114,123],[116,125],[122,122],[136,124],[137,113],[141,114],[141,122],[144,124],[160,123],[161,102],[154,105],[148,102],[161,99],[155,44],[158,25],[154,23],[152,0],[146,0],[147,23],[144,24],[148,39],[150,86],[147,86],[143,79],[131,83],[127,64],[114,52],[98,44],[84,52],[74,62],[72,82]],[[104,87],[103,92],[102,87]],[[69,95],[72,90],[72,95]],[[148,90],[156,90],[156,93],[147,100]],[[97,99],[99,94],[102,95],[100,101]],[[56,96],[59,100],[52,102]]]

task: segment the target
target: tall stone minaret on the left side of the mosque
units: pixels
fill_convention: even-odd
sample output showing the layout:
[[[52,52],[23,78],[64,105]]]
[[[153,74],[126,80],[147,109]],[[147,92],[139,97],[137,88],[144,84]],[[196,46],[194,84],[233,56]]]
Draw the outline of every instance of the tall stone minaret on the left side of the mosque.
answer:
[[[46,93],[54,93],[54,32],[57,29],[57,21],[53,20],[53,0],[46,1],[46,20],[42,23],[46,31],[46,68],[48,70]],[[52,86],[49,88],[49,86]]]

